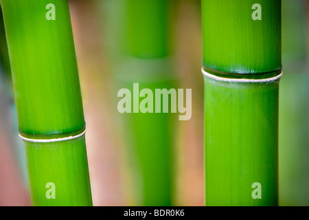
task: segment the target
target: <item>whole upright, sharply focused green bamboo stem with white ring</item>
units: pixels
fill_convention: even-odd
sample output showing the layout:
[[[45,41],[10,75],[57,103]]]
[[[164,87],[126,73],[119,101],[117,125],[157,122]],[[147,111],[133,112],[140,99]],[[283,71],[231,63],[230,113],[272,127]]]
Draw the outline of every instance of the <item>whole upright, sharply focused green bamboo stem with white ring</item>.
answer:
[[[202,19],[206,205],[277,206],[281,1],[203,0]]]

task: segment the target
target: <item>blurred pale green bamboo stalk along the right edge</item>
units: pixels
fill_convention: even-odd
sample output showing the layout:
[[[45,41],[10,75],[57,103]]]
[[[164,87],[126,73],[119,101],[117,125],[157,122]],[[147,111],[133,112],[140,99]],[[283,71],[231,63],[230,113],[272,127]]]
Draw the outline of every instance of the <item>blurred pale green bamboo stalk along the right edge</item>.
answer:
[[[306,25],[306,1],[282,0],[284,77],[279,96],[280,206],[309,206],[309,71]]]

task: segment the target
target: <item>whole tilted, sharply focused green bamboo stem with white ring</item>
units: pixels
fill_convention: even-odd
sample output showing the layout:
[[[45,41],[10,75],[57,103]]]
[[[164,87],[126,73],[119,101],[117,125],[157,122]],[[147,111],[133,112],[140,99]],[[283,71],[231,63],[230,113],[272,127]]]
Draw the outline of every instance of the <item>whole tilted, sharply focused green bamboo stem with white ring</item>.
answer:
[[[32,205],[91,206],[69,5],[52,1],[48,20],[49,3],[1,1]]]

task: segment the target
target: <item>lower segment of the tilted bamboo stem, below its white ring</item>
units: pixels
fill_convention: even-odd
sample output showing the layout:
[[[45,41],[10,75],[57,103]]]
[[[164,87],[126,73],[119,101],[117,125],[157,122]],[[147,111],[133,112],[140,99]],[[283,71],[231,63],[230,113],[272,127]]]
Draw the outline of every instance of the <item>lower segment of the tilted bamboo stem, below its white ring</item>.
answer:
[[[84,136],[24,145],[32,206],[92,205]],[[52,189],[48,183],[54,183],[54,192],[47,192]],[[48,199],[52,193],[55,199]]]

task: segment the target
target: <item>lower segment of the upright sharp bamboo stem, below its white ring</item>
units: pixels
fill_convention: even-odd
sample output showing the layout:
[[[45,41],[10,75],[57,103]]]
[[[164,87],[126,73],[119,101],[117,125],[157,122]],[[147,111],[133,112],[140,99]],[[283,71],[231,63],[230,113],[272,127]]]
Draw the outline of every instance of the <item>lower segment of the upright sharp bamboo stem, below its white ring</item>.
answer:
[[[277,206],[278,93],[278,82],[205,76],[206,206]]]

